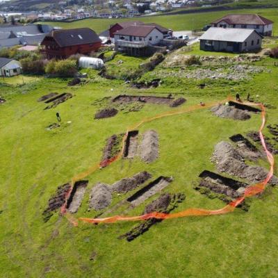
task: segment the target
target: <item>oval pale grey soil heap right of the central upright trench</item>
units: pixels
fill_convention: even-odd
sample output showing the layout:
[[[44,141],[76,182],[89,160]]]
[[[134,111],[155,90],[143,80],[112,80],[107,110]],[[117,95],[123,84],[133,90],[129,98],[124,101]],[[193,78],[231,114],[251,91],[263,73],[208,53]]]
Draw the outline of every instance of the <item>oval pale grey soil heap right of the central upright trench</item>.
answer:
[[[146,131],[142,136],[140,157],[145,163],[151,163],[158,158],[158,133],[154,130]]]

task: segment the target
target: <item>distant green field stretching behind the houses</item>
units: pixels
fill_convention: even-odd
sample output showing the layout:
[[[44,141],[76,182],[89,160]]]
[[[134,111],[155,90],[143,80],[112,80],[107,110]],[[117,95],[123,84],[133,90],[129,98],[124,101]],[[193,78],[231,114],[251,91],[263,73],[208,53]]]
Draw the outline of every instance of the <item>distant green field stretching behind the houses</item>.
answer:
[[[156,22],[167,28],[172,28],[174,31],[195,30],[202,28],[206,24],[210,24],[213,20],[218,19],[227,13],[258,13],[263,17],[267,17],[275,22],[274,34],[278,35],[278,9],[265,8],[265,9],[240,9],[229,10],[221,12],[208,12],[208,13],[194,13],[185,15],[159,15],[153,17],[136,17],[132,20],[141,20],[142,22]],[[60,26],[63,28],[80,28],[90,27],[97,33],[109,28],[111,24],[121,21],[129,21],[131,19],[84,19],[78,22],[61,23],[61,22],[45,22],[53,26]]]

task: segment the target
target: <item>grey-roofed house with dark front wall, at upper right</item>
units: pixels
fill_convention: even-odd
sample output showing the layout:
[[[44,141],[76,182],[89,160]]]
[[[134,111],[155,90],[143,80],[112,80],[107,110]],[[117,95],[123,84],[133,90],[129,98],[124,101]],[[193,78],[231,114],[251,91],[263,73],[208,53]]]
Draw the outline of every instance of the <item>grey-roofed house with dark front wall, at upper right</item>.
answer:
[[[261,49],[262,38],[254,29],[211,27],[199,40],[201,50],[240,53]]]

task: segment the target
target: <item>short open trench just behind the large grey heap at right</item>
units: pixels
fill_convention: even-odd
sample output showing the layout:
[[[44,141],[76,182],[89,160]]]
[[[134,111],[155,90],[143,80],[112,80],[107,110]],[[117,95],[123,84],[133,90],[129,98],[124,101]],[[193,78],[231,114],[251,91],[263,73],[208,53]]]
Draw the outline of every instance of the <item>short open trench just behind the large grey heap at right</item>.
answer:
[[[237,151],[243,158],[256,160],[263,156],[261,152],[244,136],[236,134],[230,137],[230,140],[236,143]]]

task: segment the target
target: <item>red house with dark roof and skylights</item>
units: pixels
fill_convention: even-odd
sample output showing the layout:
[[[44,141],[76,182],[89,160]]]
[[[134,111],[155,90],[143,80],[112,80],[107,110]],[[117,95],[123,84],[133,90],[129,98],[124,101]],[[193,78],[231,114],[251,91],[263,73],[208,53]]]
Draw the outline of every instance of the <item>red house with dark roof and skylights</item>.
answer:
[[[54,30],[41,43],[40,52],[48,59],[65,59],[74,54],[90,54],[101,47],[99,36],[90,28]]]

